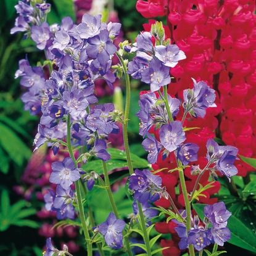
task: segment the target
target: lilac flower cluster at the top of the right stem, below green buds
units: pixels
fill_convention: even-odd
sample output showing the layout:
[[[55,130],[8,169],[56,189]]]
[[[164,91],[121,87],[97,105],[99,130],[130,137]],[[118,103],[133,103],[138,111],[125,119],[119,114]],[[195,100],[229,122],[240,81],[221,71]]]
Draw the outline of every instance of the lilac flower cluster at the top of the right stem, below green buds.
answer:
[[[130,49],[130,52],[136,51],[136,57],[129,62],[128,73],[150,85],[154,92],[171,82],[170,68],[175,67],[179,60],[186,59],[186,56],[178,46],[167,42],[154,46],[152,36],[150,32],[138,35],[134,47]]]

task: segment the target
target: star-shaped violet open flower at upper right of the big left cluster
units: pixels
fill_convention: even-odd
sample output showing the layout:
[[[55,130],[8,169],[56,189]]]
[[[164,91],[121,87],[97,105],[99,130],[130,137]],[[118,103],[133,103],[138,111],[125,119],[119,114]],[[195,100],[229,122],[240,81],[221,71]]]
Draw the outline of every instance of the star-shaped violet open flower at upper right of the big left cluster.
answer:
[[[88,39],[86,53],[89,57],[97,59],[101,65],[107,64],[110,55],[117,51],[117,47],[109,38],[109,31],[101,30],[99,35]]]

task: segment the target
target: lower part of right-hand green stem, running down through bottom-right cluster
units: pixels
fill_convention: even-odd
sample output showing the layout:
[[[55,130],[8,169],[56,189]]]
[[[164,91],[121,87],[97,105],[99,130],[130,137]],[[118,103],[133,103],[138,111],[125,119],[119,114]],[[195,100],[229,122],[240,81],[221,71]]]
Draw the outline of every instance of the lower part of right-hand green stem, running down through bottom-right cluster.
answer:
[[[179,168],[179,176],[180,176],[180,184],[181,184],[181,189],[183,192],[184,202],[186,207],[186,230],[188,234],[188,231],[191,229],[191,205],[189,202],[188,191],[186,188],[186,183],[185,183],[185,178],[184,178],[184,173],[182,168]],[[194,246],[192,244],[189,244],[189,255],[195,256]]]

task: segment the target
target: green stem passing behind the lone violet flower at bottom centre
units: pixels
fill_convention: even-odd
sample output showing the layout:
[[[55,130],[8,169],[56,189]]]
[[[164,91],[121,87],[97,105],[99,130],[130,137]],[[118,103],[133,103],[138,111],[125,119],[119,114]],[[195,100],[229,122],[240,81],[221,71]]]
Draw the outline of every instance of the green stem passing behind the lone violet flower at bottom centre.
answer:
[[[107,173],[107,164],[104,161],[102,161],[102,167],[103,167],[103,171],[104,171],[105,188],[107,189],[107,194],[109,196],[110,204],[112,206],[113,212],[115,213],[115,216],[117,218],[119,218],[119,214],[118,214],[118,211],[117,211],[117,205],[115,205],[115,200],[114,200],[112,191],[110,189],[109,175]],[[129,256],[133,256],[133,253],[131,252],[129,239],[128,239],[127,236],[125,236],[125,231],[123,231],[123,237],[125,239],[125,247],[126,247],[126,250],[127,250],[127,254]]]

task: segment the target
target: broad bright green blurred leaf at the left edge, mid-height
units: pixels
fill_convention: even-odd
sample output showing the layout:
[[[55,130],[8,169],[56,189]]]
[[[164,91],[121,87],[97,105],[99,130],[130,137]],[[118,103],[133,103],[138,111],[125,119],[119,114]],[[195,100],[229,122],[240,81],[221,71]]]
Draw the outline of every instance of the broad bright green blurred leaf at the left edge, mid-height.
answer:
[[[2,123],[0,123],[0,131],[0,144],[2,148],[17,165],[21,166],[24,159],[30,158],[30,149],[9,127]]]

